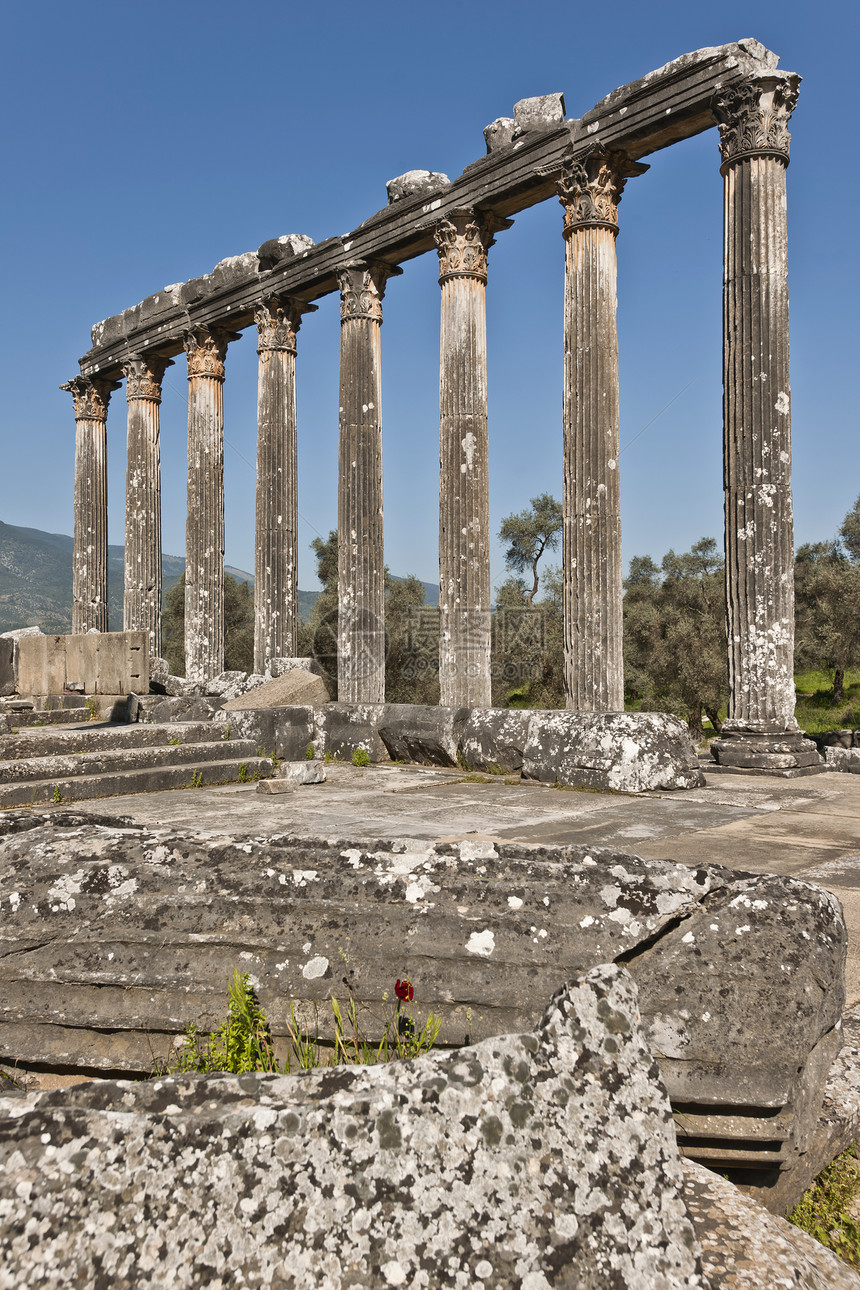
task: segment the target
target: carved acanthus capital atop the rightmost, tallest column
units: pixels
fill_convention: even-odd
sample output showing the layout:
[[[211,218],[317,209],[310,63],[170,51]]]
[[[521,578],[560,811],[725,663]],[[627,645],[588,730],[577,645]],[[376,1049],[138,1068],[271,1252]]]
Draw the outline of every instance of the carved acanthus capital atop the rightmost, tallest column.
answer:
[[[710,110],[719,126],[722,170],[740,157],[771,156],[788,165],[792,135],[788,121],[797,106],[801,77],[763,72],[718,89]]]

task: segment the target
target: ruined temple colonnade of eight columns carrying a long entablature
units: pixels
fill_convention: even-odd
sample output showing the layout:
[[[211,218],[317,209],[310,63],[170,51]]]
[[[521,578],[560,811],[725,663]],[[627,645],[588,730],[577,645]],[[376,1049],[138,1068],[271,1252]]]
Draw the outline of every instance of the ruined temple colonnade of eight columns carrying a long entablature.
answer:
[[[70,381],[77,421],[73,631],[107,630],[106,415],[126,382],[126,630],[161,653],[159,402],[188,372],[186,658],[223,670],[223,410],[231,341],[259,333],[255,659],[297,650],[297,335],[340,293],[338,490],[343,702],[384,699],[380,329],[398,266],[436,250],[441,284],[441,702],[490,704],[487,255],[511,217],[558,197],[565,240],[563,595],[567,706],[624,707],[615,237],[641,157],[714,125],[725,179],[725,497],[728,720],[714,755],[745,768],[817,762],[794,720],[785,169],[799,77],[754,40],[703,49],[614,90],[580,119],[561,94],[486,128],[462,175],[409,172],[353,233],[289,235],[97,324]]]

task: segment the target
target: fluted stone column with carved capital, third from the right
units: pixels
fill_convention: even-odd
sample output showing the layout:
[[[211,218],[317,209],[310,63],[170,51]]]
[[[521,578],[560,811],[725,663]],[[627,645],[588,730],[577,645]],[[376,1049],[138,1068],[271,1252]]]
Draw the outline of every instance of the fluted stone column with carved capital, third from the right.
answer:
[[[493,233],[512,221],[454,210],[440,261],[440,702],[489,708],[490,480],[486,280]]]

